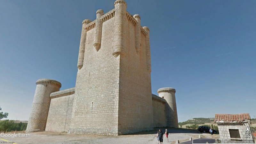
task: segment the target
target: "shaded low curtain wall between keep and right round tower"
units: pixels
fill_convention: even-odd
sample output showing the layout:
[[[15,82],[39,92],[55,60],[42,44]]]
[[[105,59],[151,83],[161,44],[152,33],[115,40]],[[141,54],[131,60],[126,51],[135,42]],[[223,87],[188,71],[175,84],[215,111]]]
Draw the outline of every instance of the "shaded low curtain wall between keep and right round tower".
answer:
[[[165,102],[163,98],[152,94],[154,127],[166,127]]]

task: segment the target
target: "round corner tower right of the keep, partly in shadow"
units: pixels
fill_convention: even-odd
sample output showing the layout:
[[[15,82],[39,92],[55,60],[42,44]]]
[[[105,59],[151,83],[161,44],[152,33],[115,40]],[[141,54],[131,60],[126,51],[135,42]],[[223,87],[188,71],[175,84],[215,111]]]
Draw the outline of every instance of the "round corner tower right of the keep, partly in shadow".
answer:
[[[166,100],[165,113],[167,127],[179,128],[175,92],[176,90],[171,87],[160,88],[157,90],[159,97]]]

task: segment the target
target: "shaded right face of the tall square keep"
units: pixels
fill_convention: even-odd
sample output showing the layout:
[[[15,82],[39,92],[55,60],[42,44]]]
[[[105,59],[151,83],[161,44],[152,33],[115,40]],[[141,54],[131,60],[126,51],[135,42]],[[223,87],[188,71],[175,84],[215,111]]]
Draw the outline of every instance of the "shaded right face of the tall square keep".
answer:
[[[124,52],[120,58],[118,132],[139,132],[153,128],[150,72],[147,71],[146,39],[141,35],[141,50],[136,52],[132,16],[124,24]]]

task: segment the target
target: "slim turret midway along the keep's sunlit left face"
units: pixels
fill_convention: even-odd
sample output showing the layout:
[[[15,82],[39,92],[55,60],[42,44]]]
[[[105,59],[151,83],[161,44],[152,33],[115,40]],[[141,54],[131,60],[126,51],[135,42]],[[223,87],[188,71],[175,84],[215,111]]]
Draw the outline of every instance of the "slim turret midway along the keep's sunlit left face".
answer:
[[[103,10],[98,10],[96,12],[96,22],[95,22],[93,46],[95,47],[97,52],[100,50],[100,45],[101,45],[102,21],[100,20],[100,17],[103,14],[104,14]]]

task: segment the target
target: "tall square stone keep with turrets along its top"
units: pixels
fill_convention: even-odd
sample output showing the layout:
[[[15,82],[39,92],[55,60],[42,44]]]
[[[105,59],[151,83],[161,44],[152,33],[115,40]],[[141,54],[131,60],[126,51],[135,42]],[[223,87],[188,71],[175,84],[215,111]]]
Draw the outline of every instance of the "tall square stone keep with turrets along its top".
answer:
[[[68,133],[119,135],[153,128],[149,29],[124,0],[84,20]]]

